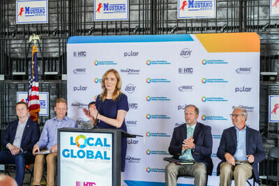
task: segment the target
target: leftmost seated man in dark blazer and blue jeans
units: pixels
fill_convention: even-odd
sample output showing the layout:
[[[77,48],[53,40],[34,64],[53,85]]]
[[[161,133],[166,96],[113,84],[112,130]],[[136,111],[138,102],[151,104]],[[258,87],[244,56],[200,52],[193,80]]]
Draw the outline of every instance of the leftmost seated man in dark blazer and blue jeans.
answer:
[[[18,119],[10,123],[3,134],[2,145],[7,149],[0,151],[0,164],[16,164],[15,180],[21,186],[25,165],[35,160],[32,149],[40,137],[40,130],[38,123],[28,118],[25,102],[17,102],[15,111]]]

